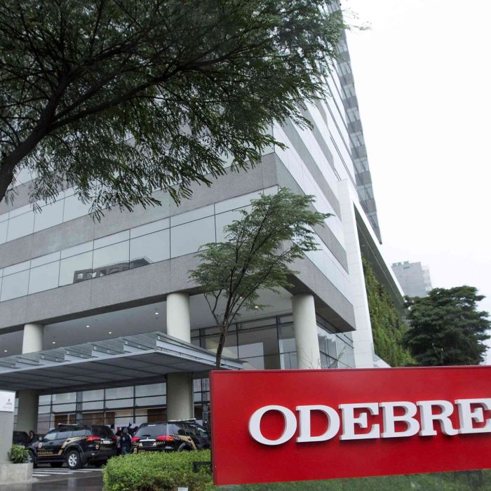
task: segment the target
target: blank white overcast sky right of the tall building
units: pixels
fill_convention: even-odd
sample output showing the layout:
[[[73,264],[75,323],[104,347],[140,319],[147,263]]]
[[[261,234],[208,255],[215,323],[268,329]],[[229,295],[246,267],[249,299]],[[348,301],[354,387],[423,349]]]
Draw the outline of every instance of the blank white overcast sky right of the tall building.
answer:
[[[342,7],[369,27],[348,45],[382,253],[428,265],[433,288],[476,286],[491,312],[491,2]]]

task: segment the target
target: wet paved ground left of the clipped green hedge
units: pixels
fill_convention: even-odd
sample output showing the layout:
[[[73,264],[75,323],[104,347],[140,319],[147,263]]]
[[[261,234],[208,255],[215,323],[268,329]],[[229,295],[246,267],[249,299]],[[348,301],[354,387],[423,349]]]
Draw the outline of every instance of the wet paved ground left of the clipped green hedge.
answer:
[[[39,466],[34,469],[32,477],[29,483],[0,485],[0,491],[102,490],[102,469],[94,467],[70,471],[67,467]]]

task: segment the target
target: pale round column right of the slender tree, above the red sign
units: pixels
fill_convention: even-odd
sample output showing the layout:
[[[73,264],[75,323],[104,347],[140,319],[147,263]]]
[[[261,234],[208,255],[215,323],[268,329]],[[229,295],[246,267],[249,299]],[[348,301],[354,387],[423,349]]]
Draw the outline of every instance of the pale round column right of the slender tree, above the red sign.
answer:
[[[314,296],[292,297],[292,311],[298,368],[321,368]]]

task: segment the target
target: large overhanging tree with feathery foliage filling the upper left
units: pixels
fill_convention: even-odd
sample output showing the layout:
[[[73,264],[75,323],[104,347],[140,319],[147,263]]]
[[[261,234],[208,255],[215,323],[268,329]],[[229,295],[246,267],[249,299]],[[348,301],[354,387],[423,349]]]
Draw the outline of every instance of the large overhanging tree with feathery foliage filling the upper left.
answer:
[[[2,1],[0,201],[20,168],[33,200],[75,187],[98,216],[254,166],[271,124],[308,125],[304,100],[325,95],[331,3]]]

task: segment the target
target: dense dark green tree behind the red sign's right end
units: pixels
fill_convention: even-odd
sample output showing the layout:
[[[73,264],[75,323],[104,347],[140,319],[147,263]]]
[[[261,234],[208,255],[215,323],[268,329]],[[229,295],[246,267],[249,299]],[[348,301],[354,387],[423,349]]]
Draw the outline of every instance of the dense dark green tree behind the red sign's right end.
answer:
[[[411,328],[405,342],[419,365],[477,365],[491,322],[478,311],[477,288],[434,288],[427,297],[406,298]]]

